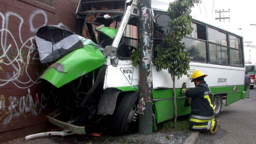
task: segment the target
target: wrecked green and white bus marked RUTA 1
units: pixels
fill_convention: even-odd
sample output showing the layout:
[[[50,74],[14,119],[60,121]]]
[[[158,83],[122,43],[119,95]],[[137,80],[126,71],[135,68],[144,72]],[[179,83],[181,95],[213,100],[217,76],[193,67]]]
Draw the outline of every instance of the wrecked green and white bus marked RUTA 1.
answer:
[[[78,34],[57,26],[38,29],[35,39],[40,60],[49,67],[40,79],[49,96],[62,109],[49,114],[51,123],[77,134],[90,125],[114,134],[138,127],[139,69],[132,65],[131,52],[138,50],[139,1],[81,0],[76,12]],[[151,9],[153,63],[155,47],[165,45],[166,11]],[[213,94],[215,116],[222,103],[245,98],[243,38],[193,19],[194,31],[182,41],[189,47],[189,74],[201,70]],[[238,77],[235,79],[234,77]],[[176,79],[177,115],[187,115],[181,94],[182,83],[194,87],[191,78]],[[153,129],[174,117],[173,82],[167,70],[152,66]],[[57,99],[59,98],[59,99]],[[225,102],[222,101],[225,99]]]

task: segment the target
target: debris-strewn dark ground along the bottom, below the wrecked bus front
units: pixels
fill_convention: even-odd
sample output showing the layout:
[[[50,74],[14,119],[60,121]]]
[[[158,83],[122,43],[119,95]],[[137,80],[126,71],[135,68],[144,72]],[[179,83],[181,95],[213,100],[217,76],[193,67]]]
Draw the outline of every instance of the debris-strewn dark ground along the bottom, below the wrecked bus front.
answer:
[[[101,135],[100,137],[94,137],[90,135],[69,135],[66,137],[45,137],[38,139],[31,139],[25,141],[25,138],[14,139],[11,141],[4,142],[7,143],[28,143],[28,144],[38,144],[38,143],[61,143],[61,144],[73,144],[73,143],[184,143],[191,133],[188,131],[157,131],[152,135],[143,135],[143,134],[126,134],[120,136],[110,136],[110,135]]]

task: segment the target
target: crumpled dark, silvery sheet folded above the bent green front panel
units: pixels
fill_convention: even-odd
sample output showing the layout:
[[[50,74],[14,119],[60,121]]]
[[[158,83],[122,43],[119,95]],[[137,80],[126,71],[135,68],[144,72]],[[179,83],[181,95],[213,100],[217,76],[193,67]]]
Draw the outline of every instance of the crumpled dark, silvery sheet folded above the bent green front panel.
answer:
[[[53,25],[39,28],[35,34],[35,41],[41,63],[53,61],[86,45],[94,45],[103,51],[101,46],[95,44],[90,39],[83,38],[72,31]]]

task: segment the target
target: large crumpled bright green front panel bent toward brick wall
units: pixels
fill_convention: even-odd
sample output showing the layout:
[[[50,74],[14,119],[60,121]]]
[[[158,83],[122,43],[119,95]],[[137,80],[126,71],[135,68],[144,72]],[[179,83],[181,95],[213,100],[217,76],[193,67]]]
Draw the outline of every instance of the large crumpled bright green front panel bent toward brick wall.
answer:
[[[62,71],[48,67],[39,77],[49,81],[57,88],[74,79],[97,69],[106,62],[106,57],[93,45],[76,49],[59,59],[56,63],[62,66]]]

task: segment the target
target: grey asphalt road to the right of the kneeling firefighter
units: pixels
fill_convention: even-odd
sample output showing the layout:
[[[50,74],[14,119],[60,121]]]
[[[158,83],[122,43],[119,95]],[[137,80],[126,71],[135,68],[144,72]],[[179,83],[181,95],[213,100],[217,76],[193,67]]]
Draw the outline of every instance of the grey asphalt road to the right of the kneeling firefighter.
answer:
[[[217,133],[200,133],[196,144],[256,143],[256,88],[250,89],[249,98],[222,105],[217,119],[220,121]]]

